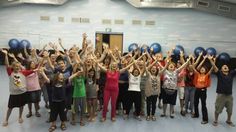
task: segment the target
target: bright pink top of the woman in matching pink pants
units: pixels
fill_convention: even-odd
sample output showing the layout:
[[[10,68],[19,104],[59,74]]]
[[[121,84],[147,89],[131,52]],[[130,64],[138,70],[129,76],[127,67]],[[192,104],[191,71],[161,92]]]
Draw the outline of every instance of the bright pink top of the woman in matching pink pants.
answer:
[[[119,77],[120,77],[120,72],[107,71],[105,90],[114,90],[114,91],[119,90],[118,87]]]

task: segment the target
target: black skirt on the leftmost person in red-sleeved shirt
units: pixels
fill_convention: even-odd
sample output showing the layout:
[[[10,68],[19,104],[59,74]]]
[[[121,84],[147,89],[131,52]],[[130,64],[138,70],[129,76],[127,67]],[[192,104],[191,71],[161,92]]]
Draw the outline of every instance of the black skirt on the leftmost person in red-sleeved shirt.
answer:
[[[8,100],[8,108],[22,107],[27,103],[28,94],[22,93],[18,95],[10,95]]]

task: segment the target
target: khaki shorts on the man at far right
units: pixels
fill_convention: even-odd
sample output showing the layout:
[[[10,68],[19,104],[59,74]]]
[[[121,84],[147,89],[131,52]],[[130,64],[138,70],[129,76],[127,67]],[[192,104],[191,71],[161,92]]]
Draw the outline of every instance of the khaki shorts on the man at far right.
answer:
[[[232,114],[233,112],[233,96],[225,95],[225,94],[217,94],[216,102],[215,102],[215,112],[220,114],[224,107],[226,108],[226,112],[228,114]]]

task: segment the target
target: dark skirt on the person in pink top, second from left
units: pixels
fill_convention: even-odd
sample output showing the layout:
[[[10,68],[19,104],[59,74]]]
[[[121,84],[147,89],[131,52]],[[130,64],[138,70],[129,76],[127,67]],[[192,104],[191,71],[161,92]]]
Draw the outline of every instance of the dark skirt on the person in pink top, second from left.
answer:
[[[28,102],[27,103],[38,103],[41,101],[41,90],[28,91]]]

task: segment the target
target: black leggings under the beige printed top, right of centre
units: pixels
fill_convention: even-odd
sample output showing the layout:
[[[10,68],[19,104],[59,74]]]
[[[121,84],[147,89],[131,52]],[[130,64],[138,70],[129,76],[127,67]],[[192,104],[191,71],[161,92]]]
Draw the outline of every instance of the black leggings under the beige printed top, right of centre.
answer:
[[[156,103],[157,103],[157,95],[151,95],[149,97],[147,97],[147,115],[150,116],[150,112],[151,112],[151,107],[152,107],[152,115],[155,115],[155,111],[156,111]]]

